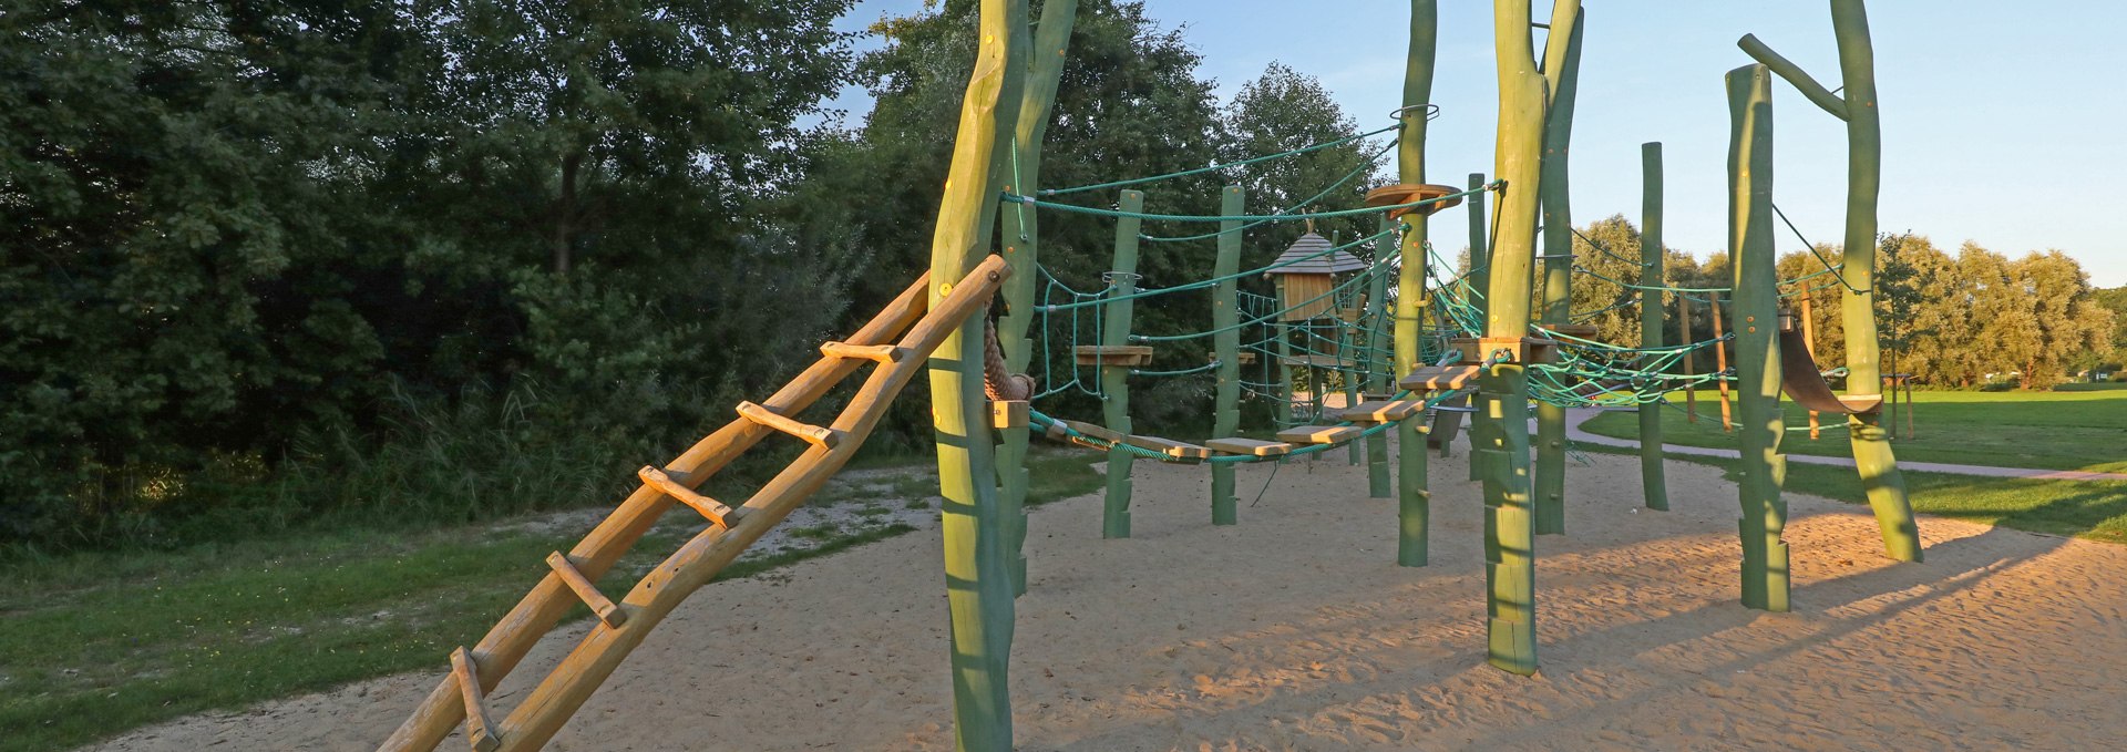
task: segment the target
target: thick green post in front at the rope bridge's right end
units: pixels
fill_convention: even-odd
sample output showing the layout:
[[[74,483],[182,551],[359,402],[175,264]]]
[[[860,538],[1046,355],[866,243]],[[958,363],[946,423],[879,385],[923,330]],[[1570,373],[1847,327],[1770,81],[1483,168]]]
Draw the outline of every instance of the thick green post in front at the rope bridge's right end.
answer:
[[[1561,0],[1559,8],[1574,4]],[[1553,28],[1572,28],[1568,23]],[[1529,42],[1529,0],[1493,2],[1500,68],[1500,140],[1493,174],[1506,181],[1493,225],[1491,308],[1485,338],[1512,359],[1478,378],[1470,461],[1485,480],[1485,584],[1491,665],[1536,673],[1536,518],[1529,503],[1529,272],[1536,266],[1536,212],[1544,161],[1544,74]],[[1493,359],[1497,351],[1483,353]]]

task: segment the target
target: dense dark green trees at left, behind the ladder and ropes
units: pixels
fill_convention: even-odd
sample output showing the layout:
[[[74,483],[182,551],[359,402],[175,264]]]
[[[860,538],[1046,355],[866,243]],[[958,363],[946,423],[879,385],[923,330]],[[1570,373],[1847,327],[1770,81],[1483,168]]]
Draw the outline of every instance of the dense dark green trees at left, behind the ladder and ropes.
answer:
[[[0,0],[0,542],[608,499],[927,266],[974,2],[883,19],[864,53],[849,8]],[[1357,127],[1283,66],[1219,102],[1142,2],[1083,2],[1068,59],[1051,185]],[[827,104],[849,85],[874,98],[857,123]],[[1244,181],[1274,210],[1378,147],[1149,206],[1212,212]],[[1098,287],[1110,223],[1042,234]],[[1140,272],[1210,263],[1155,244]],[[1149,331],[1202,317],[1140,308]],[[923,431],[910,397],[889,440]]]

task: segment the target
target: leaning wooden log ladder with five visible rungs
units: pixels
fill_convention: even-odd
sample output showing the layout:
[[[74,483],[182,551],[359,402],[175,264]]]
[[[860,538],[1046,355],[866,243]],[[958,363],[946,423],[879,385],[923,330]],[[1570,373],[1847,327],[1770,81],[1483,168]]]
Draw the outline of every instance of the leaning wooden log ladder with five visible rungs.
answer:
[[[638,472],[642,486],[568,554],[547,557],[551,571],[487,631],[487,637],[472,648],[451,652],[451,673],[379,750],[434,750],[459,722],[466,722],[466,735],[479,752],[545,746],[666,614],[849,463],[893,397],[925,368],[929,353],[989,304],[1006,274],[1004,259],[991,255],[966,280],[949,287],[951,293],[936,308],[927,306],[929,276],[919,278],[849,342],[821,346],[823,357],[772,397],[740,404],[736,421],[702,438],[666,467],[642,467]],[[827,389],[866,365],[876,368],[834,423],[821,427],[795,418]],[[730,508],[693,491],[772,433],[800,438],[806,450],[747,503]],[[598,591],[598,578],[613,569],[613,563],[674,503],[700,512],[708,529],[651,569],[617,603],[610,601]],[[487,693],[576,603],[589,605],[598,616],[591,633],[517,710],[500,722],[493,720]]]

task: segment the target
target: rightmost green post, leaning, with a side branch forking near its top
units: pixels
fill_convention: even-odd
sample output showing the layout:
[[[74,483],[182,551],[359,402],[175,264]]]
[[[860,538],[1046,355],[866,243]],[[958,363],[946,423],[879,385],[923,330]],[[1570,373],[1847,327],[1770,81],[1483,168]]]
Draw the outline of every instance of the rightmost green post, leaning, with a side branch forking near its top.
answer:
[[[1868,6],[1861,0],[1831,0],[1831,34],[1840,45],[1840,93],[1827,91],[1799,66],[1787,62],[1757,36],[1744,34],[1736,45],[1753,59],[1787,79],[1804,98],[1831,117],[1846,121],[1846,246],[1840,259],[1840,319],[1846,336],[1846,393],[1880,395],[1882,370],[1876,340],[1876,200],[1882,191],[1882,113],[1876,108],[1876,47],[1868,32]],[[1868,491],[1870,510],[1882,533],[1885,554],[1897,561],[1921,561],[1921,529],[1906,495],[1906,476],[1897,472],[1891,435],[1882,414],[1848,416],[1855,469]]]

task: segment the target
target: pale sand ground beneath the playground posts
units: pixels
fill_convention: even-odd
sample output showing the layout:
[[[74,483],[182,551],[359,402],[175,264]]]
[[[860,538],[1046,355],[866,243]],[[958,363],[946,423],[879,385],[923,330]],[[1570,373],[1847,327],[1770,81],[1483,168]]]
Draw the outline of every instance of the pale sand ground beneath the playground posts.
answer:
[[[1023,750],[2101,750],[2127,739],[2127,548],[1923,518],[1878,554],[1863,508],[1793,497],[1795,612],[1736,603],[1736,489],[1670,463],[1574,465],[1540,540],[1544,669],[1485,665],[1478,495],[1434,461],[1431,567],[1393,565],[1366,469],[1240,472],[1212,527],[1202,467],[1140,463],[1136,537],[1100,497],[1034,512],[1012,661]],[[1091,455],[1089,455],[1091,457]],[[934,531],[710,584],[553,750],[951,748]],[[527,578],[542,571],[525,563]],[[506,712],[583,625],[547,637]],[[372,750],[447,667],[136,731],[104,750]],[[464,750],[453,737],[445,750]]]

